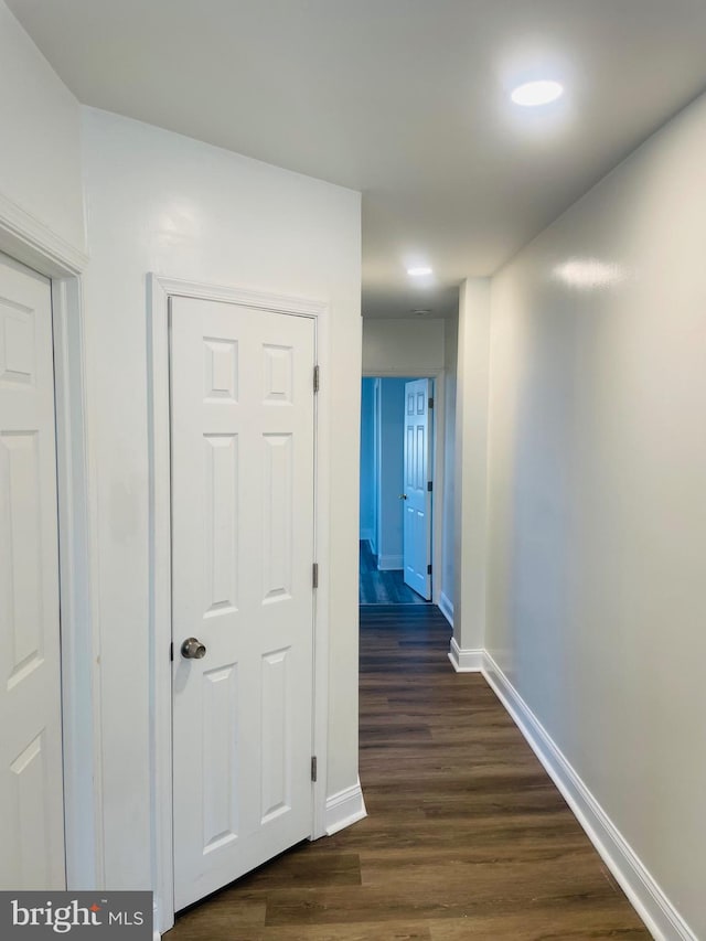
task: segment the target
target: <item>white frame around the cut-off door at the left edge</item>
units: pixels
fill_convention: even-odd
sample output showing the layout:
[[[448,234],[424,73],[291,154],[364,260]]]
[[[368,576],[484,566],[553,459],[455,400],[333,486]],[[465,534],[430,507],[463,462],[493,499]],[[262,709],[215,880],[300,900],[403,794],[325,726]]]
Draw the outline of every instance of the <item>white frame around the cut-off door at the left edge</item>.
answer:
[[[0,250],[52,281],[66,885],[100,888],[100,644],[81,291],[88,258],[2,195]]]

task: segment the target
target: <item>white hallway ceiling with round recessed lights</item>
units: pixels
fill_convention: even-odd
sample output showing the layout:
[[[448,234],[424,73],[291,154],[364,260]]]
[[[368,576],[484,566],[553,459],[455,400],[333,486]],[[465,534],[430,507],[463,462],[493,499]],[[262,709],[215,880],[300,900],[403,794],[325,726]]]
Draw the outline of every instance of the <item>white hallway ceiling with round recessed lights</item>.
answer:
[[[362,190],[368,317],[453,312],[706,88],[706,0],[7,2],[83,103]]]

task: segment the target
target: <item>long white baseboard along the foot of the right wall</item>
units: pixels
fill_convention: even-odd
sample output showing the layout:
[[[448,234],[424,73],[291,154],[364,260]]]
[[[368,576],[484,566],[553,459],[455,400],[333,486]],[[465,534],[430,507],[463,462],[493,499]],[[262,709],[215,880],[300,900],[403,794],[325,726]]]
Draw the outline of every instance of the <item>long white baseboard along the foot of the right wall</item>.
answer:
[[[483,651],[482,672],[652,937],[656,941],[697,941],[696,934],[488,651]]]

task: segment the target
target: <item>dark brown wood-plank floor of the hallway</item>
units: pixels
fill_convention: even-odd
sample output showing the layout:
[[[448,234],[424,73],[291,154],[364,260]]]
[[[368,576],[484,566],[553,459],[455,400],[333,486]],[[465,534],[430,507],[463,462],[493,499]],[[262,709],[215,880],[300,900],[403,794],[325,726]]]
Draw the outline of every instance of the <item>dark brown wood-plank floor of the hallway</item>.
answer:
[[[649,939],[432,606],[361,609],[368,816],[183,913],[171,941]]]

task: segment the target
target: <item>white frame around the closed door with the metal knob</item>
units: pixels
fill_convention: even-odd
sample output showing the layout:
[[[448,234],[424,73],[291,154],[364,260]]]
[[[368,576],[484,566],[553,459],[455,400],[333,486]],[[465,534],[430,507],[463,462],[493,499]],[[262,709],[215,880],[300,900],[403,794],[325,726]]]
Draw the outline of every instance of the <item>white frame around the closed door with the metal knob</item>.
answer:
[[[263,291],[201,285],[148,275],[148,381],[150,458],[150,659],[152,751],[152,846],[154,926],[160,932],[174,923],[174,856],[172,833],[172,643],[171,619],[171,494],[169,414],[169,298],[173,296],[224,301],[250,308],[312,318],[321,388],[314,397],[314,554],[319,587],[314,591],[313,748],[318,780],[313,784],[311,838],[325,834],[328,745],[328,611],[329,533],[329,402],[328,306],[321,301]],[[312,377],[313,378],[313,377]]]

